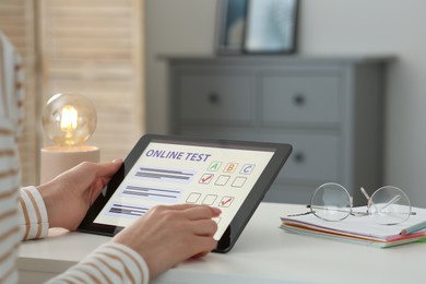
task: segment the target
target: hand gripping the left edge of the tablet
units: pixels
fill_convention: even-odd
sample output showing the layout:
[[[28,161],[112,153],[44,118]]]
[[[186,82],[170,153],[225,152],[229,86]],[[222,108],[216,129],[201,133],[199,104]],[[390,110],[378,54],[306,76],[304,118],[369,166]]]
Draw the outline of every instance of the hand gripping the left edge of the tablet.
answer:
[[[120,159],[102,164],[83,162],[37,187],[46,204],[49,226],[76,229],[121,164]]]

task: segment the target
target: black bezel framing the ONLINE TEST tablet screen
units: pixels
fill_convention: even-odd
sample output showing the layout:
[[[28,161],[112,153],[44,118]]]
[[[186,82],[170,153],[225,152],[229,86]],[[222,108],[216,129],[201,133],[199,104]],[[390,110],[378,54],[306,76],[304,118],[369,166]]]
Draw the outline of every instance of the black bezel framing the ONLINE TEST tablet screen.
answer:
[[[119,226],[97,224],[93,222],[151,142],[197,146],[214,146],[224,149],[251,149],[259,151],[273,151],[273,156],[269,161],[262,174],[259,176],[255,186],[248,193],[246,200],[235,214],[226,232],[217,241],[217,247],[214,250],[215,252],[227,252],[234,247],[239,235],[242,233],[242,229],[246,227],[250,217],[255,213],[259,203],[262,201],[264,194],[271,187],[275,177],[279,175],[281,168],[283,167],[284,163],[286,162],[293,150],[292,145],[286,143],[249,142],[178,135],[145,134],[134,145],[134,147],[123,161],[122,166],[113,176],[106,187],[106,191],[104,192],[105,194],[100,194],[96,199],[94,204],[90,208],[78,230],[97,235],[115,236],[123,228]]]

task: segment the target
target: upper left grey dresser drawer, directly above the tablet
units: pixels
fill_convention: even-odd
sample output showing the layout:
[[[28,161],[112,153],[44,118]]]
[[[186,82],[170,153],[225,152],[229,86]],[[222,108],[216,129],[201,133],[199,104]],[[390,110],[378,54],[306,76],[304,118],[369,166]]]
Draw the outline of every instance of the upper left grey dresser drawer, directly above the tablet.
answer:
[[[179,110],[184,123],[251,123],[253,87],[249,75],[180,75]]]

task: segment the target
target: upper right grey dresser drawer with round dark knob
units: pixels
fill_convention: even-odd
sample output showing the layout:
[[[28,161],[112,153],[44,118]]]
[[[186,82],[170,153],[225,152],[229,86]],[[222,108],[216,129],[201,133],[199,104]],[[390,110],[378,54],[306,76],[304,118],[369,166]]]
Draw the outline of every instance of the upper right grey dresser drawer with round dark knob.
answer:
[[[338,123],[340,121],[339,76],[276,75],[261,78],[262,122]]]

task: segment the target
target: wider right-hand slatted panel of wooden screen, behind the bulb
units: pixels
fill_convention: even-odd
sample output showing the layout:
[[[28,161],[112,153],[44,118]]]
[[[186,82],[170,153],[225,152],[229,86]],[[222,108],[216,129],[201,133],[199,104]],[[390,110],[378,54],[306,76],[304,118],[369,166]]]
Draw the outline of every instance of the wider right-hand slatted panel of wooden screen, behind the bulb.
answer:
[[[74,92],[94,103],[88,141],[103,161],[126,157],[144,131],[140,0],[44,0],[39,8],[44,102]]]

